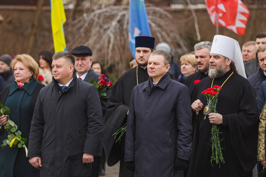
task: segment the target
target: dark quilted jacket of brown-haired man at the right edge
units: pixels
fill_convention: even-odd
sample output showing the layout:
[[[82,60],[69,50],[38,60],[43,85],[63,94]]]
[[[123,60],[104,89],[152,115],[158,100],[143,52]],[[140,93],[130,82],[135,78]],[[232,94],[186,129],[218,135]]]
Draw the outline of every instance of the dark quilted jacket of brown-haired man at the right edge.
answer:
[[[266,76],[264,75],[263,70],[261,68],[259,68],[259,71],[255,74],[252,74],[251,76],[249,76],[247,78],[247,80],[250,82],[250,84],[254,88],[254,90],[256,92],[256,97],[257,97],[261,83],[263,81],[266,81]]]

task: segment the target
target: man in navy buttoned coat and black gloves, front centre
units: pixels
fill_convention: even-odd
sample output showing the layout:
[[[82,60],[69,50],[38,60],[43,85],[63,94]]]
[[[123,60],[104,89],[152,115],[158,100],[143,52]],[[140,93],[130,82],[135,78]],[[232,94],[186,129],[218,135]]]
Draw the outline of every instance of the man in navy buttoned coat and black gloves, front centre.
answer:
[[[155,50],[148,59],[149,80],[132,91],[126,127],[125,162],[139,176],[183,176],[192,146],[188,88],[167,71],[171,55]]]

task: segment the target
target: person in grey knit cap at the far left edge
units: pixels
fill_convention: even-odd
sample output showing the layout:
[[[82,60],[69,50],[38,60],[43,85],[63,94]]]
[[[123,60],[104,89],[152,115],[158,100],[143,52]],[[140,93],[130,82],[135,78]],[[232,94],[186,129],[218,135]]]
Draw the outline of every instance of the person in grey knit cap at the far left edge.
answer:
[[[14,73],[10,67],[11,61],[11,56],[8,54],[0,57],[0,76],[4,79],[6,87],[15,81]]]

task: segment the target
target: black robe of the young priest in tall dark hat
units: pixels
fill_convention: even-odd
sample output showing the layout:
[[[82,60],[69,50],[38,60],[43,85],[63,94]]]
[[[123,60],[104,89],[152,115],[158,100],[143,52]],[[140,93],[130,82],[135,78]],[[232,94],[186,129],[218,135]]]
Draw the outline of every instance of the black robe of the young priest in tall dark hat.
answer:
[[[171,72],[168,71],[168,74],[171,79],[175,79]],[[103,121],[104,127],[100,136],[106,153],[108,166],[113,166],[119,160],[124,160],[125,135],[123,135],[120,143],[116,143],[114,136],[112,135],[118,131],[121,126],[126,124],[127,112],[129,110],[129,103],[133,88],[137,85],[137,83],[140,84],[147,81],[149,77],[147,68],[143,69],[140,66],[136,66],[126,71],[111,89],[111,93],[107,101],[106,116]]]

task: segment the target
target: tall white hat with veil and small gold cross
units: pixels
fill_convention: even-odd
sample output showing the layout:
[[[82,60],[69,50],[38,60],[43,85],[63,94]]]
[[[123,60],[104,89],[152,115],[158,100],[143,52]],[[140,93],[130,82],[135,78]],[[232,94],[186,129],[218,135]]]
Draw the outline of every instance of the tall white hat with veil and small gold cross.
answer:
[[[241,49],[236,40],[223,35],[215,35],[210,53],[216,53],[230,58],[235,62],[238,74],[246,78]]]

